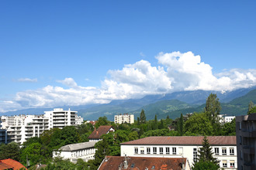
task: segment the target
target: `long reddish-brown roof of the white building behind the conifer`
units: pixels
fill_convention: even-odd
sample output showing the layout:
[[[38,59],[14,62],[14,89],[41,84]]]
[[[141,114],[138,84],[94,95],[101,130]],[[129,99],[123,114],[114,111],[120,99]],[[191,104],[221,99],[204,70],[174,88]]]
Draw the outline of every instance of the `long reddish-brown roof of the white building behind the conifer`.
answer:
[[[202,145],[203,136],[152,136],[120,145]],[[210,145],[237,145],[236,136],[208,136]]]

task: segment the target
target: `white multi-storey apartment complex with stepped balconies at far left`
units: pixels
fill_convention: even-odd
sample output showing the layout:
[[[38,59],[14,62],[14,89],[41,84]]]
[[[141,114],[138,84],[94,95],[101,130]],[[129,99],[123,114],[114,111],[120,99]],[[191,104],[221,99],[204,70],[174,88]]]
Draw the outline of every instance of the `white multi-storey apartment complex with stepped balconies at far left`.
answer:
[[[61,113],[64,113],[64,119],[62,116],[60,118]],[[29,138],[40,137],[40,134],[42,134],[44,130],[77,125],[81,124],[83,121],[83,118],[78,117],[76,112],[63,110],[61,108],[47,111],[47,113],[43,115],[22,114],[10,117],[2,116],[0,119],[1,129],[5,130],[7,134],[6,143],[15,141],[19,144],[22,144]]]

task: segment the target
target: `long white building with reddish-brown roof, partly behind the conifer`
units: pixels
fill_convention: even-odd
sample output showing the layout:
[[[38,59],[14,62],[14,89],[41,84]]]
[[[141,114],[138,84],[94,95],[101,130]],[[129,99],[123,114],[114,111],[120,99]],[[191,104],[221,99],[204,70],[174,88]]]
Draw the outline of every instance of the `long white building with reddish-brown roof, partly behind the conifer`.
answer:
[[[127,141],[121,145],[121,156],[187,158],[192,167],[202,148],[202,136],[159,136]],[[213,157],[220,162],[220,168],[237,168],[237,141],[235,136],[209,136]]]

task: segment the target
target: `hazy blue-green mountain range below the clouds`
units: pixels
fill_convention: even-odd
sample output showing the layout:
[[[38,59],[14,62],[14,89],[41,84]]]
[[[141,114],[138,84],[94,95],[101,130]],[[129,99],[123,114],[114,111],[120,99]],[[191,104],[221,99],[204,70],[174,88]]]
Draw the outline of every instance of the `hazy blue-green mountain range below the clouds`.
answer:
[[[256,103],[256,87],[243,88],[239,90],[220,91],[209,90],[192,90],[181,91],[175,93],[167,93],[164,95],[147,95],[141,99],[129,100],[112,100],[109,104],[91,104],[83,106],[71,107],[71,110],[77,110],[78,115],[84,117],[85,120],[97,120],[98,117],[106,116],[113,121],[115,114],[130,113],[138,117],[140,110],[144,109],[147,120],[157,118],[165,118],[167,115],[171,118],[179,117],[179,115],[199,112],[204,108],[206,98],[210,93],[216,93],[220,99],[222,111],[221,114],[240,115],[247,114],[247,106],[250,101]],[[60,106],[68,109],[68,106]],[[53,108],[31,108],[26,110],[9,111],[3,115],[15,114],[43,114],[43,111],[52,110]]]

